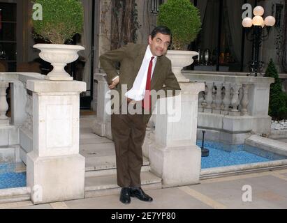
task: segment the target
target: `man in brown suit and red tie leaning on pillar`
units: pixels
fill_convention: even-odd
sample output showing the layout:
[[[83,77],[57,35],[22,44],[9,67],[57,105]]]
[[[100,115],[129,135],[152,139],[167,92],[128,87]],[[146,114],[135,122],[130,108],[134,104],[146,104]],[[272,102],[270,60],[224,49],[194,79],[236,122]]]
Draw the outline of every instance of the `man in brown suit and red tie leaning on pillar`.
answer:
[[[131,197],[152,201],[140,187],[142,167],[142,144],[145,139],[147,122],[151,116],[152,100],[150,91],[180,90],[171,62],[165,56],[171,43],[171,32],[166,26],[156,27],[149,36],[149,45],[128,44],[120,49],[100,56],[101,67],[107,74],[110,89],[124,93],[126,103],[120,105],[120,114],[112,114],[112,139],[115,142],[117,162],[117,184],[122,187],[119,200],[130,203]],[[116,64],[120,63],[119,74]],[[173,93],[175,94],[175,93]],[[142,113],[124,114],[123,107],[135,103],[142,105]],[[154,104],[154,103],[153,103]],[[144,111],[145,110],[145,111]],[[146,114],[149,111],[149,114]]]

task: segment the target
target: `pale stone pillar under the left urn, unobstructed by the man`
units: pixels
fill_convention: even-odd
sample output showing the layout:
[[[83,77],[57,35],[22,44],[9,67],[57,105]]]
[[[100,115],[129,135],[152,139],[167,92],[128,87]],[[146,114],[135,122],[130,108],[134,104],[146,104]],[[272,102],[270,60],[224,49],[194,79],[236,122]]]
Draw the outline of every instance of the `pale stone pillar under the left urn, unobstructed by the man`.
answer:
[[[34,203],[84,198],[84,157],[79,154],[80,92],[86,83],[28,80],[33,92],[33,151],[27,187]]]

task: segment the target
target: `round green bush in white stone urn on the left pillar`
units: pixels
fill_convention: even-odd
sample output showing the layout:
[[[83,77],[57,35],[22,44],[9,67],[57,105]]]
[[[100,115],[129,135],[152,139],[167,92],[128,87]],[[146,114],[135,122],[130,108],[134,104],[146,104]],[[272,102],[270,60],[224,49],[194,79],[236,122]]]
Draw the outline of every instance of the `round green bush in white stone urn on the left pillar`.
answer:
[[[84,13],[82,3],[77,0],[34,0],[41,5],[43,19],[33,20],[34,33],[43,38],[47,44],[36,44],[40,49],[39,56],[50,62],[54,69],[47,74],[50,80],[73,80],[65,70],[67,63],[78,59],[80,45],[65,45],[75,33],[82,33]]]

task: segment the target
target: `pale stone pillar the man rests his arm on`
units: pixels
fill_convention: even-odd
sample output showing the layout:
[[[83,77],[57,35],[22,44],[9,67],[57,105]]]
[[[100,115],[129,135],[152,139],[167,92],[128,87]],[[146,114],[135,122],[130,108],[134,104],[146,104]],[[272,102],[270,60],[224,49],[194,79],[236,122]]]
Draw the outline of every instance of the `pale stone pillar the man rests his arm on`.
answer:
[[[198,93],[204,83],[180,82],[182,93],[162,98],[173,114],[156,114],[155,140],[149,145],[151,171],[163,179],[163,187],[199,183],[201,150],[196,146]],[[173,103],[173,104],[171,104]],[[160,104],[160,105],[159,105]]]

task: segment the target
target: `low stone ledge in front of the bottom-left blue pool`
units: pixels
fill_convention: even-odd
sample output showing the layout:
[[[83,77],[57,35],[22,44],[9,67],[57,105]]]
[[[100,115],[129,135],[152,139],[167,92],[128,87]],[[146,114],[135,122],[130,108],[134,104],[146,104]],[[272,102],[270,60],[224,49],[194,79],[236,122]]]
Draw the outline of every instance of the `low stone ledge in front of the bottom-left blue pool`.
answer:
[[[31,191],[29,187],[17,187],[0,190],[0,203],[29,201]]]

